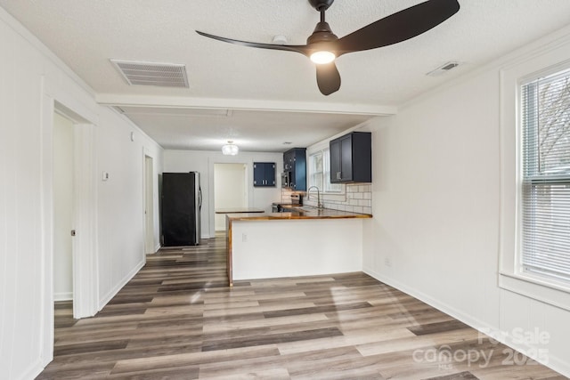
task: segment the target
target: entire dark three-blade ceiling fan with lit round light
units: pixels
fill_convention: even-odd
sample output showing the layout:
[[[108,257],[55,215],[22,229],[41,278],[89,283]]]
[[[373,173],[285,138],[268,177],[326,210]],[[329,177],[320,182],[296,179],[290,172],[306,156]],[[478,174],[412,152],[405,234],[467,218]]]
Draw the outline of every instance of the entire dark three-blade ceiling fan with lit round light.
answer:
[[[309,0],[311,6],[321,13],[321,21],[317,23],[313,34],[307,38],[306,44],[260,44],[214,36],[198,30],[196,32],[201,36],[230,44],[301,53],[316,63],[319,90],[323,95],[330,95],[340,88],[340,74],[335,59],[341,55],[397,44],[419,36],[460,10],[457,0],[428,0],[338,38],[325,21],[325,12],[333,2],[334,0]]]

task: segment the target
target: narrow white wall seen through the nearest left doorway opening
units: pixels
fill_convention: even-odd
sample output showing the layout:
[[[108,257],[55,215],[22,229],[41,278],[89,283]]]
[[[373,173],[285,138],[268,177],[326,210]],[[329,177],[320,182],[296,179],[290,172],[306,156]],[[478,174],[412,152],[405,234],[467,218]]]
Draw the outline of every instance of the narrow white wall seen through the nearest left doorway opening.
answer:
[[[53,295],[56,301],[73,296],[72,244],[74,165],[73,122],[53,115]]]

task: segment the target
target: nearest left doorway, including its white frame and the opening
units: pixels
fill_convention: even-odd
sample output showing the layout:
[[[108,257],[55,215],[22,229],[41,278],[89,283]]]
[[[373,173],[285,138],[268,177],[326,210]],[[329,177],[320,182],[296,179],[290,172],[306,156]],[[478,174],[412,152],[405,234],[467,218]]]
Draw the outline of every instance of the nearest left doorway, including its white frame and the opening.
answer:
[[[42,230],[47,232],[42,236],[45,257],[39,300],[43,364],[53,359],[56,313],[79,319],[99,310],[95,124],[91,121],[97,115],[65,94],[61,94],[63,104],[58,94],[57,86],[46,84],[41,117]],[[71,236],[72,230],[77,230],[77,236]],[[67,303],[65,311],[61,304],[56,310],[56,302]]]

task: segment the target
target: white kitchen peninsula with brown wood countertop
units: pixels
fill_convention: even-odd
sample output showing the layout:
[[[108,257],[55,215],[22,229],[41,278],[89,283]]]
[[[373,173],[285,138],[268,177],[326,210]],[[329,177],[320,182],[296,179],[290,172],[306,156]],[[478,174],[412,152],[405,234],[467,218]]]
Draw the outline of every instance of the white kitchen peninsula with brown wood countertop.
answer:
[[[228,214],[227,271],[233,280],[362,271],[370,214],[291,207],[285,213]]]

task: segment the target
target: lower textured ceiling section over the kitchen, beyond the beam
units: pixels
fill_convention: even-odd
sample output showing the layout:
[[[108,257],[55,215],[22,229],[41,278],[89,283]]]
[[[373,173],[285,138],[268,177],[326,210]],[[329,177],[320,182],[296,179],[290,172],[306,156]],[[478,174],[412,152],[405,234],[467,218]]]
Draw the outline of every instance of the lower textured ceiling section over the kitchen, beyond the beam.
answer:
[[[192,150],[209,150],[213,145],[219,149],[221,142],[231,140],[244,151],[285,151],[312,145],[369,118],[240,109],[216,112],[147,107],[121,109],[135,124],[144,125],[144,130],[162,141],[163,146]]]

